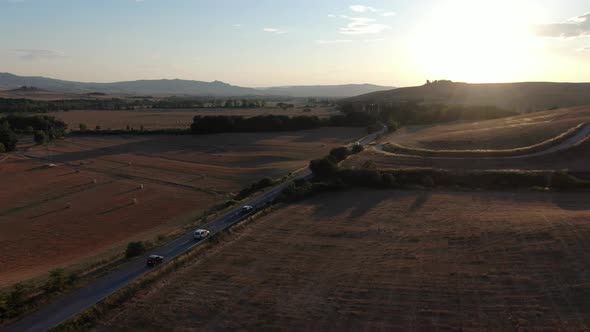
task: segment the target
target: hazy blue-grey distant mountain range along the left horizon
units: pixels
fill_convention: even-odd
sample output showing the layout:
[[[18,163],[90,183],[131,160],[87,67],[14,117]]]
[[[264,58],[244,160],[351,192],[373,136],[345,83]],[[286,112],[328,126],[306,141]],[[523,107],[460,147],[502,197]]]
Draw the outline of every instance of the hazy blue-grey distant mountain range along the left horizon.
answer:
[[[110,95],[142,96],[283,96],[329,98],[345,98],[375,91],[393,89],[393,87],[372,84],[289,86],[257,89],[230,85],[220,81],[202,82],[179,79],[139,80],[115,83],[84,83],[46,77],[27,77],[9,73],[0,73],[0,90],[13,90],[23,86],[74,94],[99,92]]]

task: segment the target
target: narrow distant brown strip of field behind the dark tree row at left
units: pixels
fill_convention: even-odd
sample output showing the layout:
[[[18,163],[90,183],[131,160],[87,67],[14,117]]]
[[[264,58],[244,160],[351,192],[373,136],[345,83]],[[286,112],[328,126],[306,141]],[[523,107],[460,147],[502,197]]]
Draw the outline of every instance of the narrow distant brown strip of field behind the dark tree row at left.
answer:
[[[52,112],[48,115],[55,116],[68,124],[68,127],[77,130],[80,123],[84,123],[89,129],[100,126],[102,129],[124,129],[129,125],[135,129],[144,126],[145,129],[163,128],[189,128],[196,115],[239,115],[252,117],[257,115],[315,115],[327,117],[338,114],[339,111],[331,107],[311,108],[311,112],[303,112],[303,108],[260,108],[260,109],[150,109],[136,111],[68,111]]]

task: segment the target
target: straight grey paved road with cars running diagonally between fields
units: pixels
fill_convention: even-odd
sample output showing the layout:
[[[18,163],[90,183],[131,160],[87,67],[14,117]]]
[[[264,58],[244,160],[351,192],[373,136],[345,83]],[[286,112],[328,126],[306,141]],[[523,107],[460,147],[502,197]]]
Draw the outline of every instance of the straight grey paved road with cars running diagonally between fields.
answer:
[[[378,135],[385,133],[386,130],[387,128],[384,127],[380,132],[368,135],[356,143],[366,146],[374,141]],[[311,176],[311,172],[306,169],[299,174],[296,179],[310,179]],[[278,185],[263,195],[251,200],[246,205],[254,207],[254,210],[259,210],[277,198],[286,186],[287,183]],[[239,223],[249,215],[250,214],[243,214],[241,207],[238,207],[222,217],[203,225],[201,228],[209,230],[211,236],[214,236],[215,234]],[[164,263],[166,263],[206,241],[207,240],[195,241],[192,232],[185,234],[162,247],[146,253],[144,256],[137,257],[122,264],[115,271],[100,277],[91,284],[59,298],[22,320],[0,330],[5,332],[47,331],[48,329],[73,318],[78,313],[92,307],[117,290],[128,286],[151,271],[152,269],[146,266],[145,257],[147,255],[162,255],[165,257]]]

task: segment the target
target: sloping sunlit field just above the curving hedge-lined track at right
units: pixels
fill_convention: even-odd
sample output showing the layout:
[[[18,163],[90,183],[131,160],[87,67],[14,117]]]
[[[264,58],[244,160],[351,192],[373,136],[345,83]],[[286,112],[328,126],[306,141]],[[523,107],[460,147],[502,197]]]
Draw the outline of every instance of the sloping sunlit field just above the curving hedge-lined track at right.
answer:
[[[478,122],[410,126],[383,142],[434,150],[512,149],[541,143],[583,122],[590,122],[589,106]]]

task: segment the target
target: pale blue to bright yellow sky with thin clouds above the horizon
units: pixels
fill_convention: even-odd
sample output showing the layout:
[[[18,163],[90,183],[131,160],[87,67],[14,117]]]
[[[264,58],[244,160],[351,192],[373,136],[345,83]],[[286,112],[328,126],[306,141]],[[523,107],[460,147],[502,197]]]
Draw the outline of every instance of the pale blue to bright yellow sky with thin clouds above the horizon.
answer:
[[[0,0],[0,72],[234,85],[590,81],[589,0]]]

